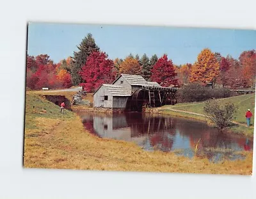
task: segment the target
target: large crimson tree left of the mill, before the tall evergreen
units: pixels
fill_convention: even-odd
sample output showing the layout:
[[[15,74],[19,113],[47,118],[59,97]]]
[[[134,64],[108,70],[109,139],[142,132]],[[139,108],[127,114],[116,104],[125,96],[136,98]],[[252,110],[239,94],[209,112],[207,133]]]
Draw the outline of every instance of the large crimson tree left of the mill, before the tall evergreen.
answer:
[[[102,83],[112,83],[116,77],[116,70],[113,61],[108,59],[105,52],[94,51],[88,56],[79,74],[84,81],[81,86],[91,92]]]

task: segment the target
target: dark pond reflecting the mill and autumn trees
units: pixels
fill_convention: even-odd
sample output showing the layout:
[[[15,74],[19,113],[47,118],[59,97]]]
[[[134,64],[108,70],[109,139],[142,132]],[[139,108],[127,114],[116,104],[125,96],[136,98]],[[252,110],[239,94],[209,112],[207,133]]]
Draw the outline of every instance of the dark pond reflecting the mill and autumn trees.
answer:
[[[100,138],[132,141],[147,151],[162,150],[177,155],[243,159],[252,150],[253,139],[219,132],[204,122],[149,113],[79,113],[84,127]]]

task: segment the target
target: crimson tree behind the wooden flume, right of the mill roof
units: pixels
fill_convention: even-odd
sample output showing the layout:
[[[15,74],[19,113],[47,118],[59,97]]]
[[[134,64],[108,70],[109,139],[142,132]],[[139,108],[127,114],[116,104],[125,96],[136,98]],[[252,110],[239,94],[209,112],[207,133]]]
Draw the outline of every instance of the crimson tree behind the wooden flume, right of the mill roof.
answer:
[[[172,60],[168,60],[166,54],[157,60],[156,64],[153,66],[151,80],[156,81],[161,86],[177,86],[178,80],[175,79],[177,73],[173,67]]]

